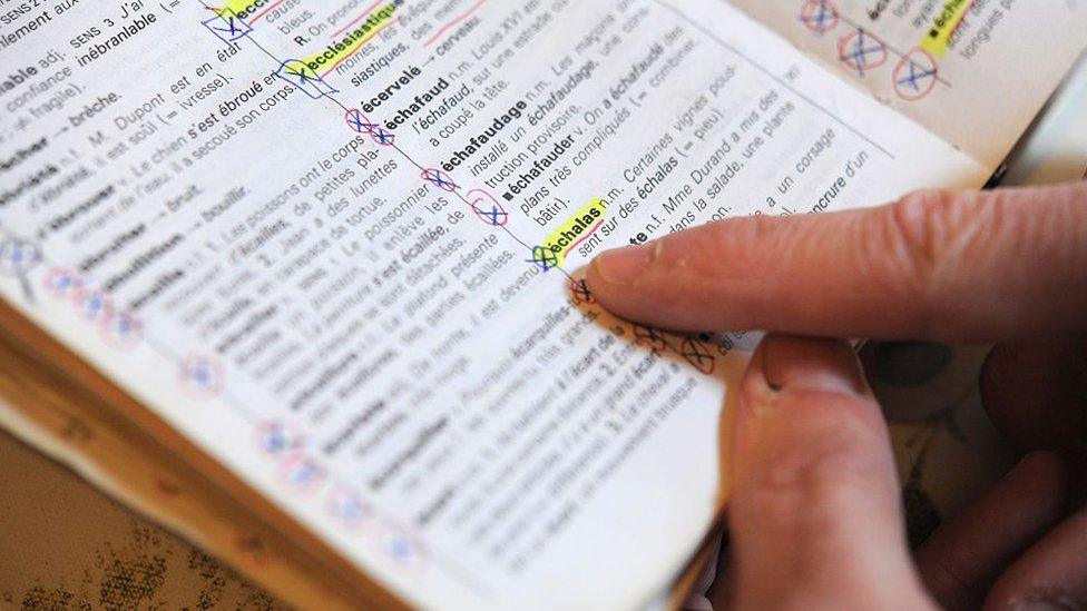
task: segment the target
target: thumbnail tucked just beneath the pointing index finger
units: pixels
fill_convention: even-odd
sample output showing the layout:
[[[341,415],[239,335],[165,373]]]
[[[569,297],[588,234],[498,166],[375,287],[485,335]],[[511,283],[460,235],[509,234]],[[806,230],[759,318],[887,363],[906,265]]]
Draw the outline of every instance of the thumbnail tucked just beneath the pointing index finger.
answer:
[[[768,335],[763,341],[763,376],[774,391],[862,395],[868,385],[845,342]]]

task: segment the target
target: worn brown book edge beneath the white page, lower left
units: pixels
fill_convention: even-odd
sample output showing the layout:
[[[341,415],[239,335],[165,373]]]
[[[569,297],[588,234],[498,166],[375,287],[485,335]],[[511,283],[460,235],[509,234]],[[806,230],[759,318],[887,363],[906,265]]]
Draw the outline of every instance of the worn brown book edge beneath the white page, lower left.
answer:
[[[407,609],[0,299],[0,425],[302,609]]]

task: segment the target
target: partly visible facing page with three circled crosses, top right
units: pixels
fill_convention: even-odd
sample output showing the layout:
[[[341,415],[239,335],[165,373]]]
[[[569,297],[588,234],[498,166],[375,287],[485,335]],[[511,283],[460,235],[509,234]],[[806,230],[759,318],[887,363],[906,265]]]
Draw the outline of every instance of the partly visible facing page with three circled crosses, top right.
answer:
[[[993,168],[1087,48],[1083,2],[732,3]]]

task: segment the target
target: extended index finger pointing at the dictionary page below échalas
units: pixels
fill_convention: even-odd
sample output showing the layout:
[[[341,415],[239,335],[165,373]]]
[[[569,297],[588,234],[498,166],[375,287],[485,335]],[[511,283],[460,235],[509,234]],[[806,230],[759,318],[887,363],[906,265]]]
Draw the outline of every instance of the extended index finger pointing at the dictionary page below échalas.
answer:
[[[998,341],[1085,328],[1087,184],[729,219],[597,257],[616,314],[684,331]]]

